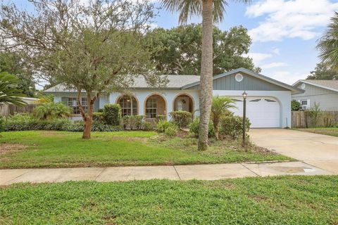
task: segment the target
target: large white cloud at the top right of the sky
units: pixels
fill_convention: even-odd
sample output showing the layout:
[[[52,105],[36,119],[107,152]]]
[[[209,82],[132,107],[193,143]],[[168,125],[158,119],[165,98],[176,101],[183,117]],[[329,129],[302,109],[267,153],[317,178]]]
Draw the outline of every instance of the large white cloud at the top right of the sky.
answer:
[[[338,3],[328,0],[263,0],[246,8],[246,16],[265,15],[258,27],[249,30],[253,41],[280,41],[299,37],[304,40],[318,37],[316,28],[329,23]]]

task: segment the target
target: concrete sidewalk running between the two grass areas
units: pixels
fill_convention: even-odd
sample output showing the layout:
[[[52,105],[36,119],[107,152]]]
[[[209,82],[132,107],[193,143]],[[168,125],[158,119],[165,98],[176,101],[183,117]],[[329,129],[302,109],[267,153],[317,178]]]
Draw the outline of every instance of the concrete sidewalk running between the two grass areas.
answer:
[[[20,182],[130,181],[148,179],[217,180],[247,176],[330,175],[304,162],[263,164],[177,165],[149,167],[86,167],[61,169],[0,169],[0,185]]]

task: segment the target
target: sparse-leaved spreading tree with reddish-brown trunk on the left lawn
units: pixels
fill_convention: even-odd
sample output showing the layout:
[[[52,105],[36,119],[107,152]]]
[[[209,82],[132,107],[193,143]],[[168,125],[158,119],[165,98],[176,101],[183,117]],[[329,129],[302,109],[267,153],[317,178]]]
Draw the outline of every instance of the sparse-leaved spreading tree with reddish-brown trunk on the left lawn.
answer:
[[[147,1],[32,0],[35,10],[2,5],[0,32],[3,49],[25,51],[38,74],[53,77],[77,91],[84,120],[83,139],[90,138],[93,105],[109,91],[132,85],[142,74],[149,84],[159,77],[151,72],[150,53],[142,49],[143,33],[154,18]],[[82,106],[82,91],[87,111]]]

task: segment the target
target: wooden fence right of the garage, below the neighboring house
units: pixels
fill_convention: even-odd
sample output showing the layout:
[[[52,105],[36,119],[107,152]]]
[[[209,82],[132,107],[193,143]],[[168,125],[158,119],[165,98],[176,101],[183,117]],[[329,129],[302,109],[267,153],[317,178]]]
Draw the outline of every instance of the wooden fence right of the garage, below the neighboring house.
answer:
[[[308,128],[308,127],[332,127],[338,122],[337,111],[321,111],[317,121],[313,118],[310,111],[294,111],[292,112],[292,127]]]

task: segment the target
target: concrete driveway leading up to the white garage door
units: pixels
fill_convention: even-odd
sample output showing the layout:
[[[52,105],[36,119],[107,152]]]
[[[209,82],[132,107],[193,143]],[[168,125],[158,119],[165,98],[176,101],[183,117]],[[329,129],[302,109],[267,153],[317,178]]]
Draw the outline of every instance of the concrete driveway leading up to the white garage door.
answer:
[[[338,174],[338,137],[290,129],[251,129],[253,143]]]

